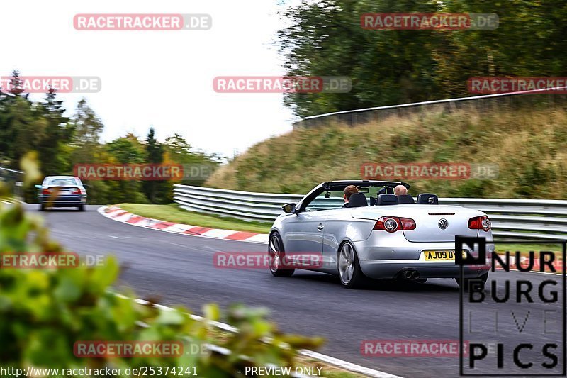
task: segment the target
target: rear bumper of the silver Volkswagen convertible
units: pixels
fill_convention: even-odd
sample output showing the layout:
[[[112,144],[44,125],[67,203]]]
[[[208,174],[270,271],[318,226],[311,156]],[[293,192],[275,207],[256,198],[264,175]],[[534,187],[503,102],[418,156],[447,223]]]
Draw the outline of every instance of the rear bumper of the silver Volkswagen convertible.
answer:
[[[379,235],[382,236],[382,235]],[[460,277],[461,267],[454,260],[425,260],[425,250],[455,250],[454,242],[412,243],[403,236],[388,235],[386,238],[371,238],[354,242],[362,272],[375,279],[394,279],[405,270],[419,272],[420,278]],[[483,265],[464,266],[464,276],[480,277],[490,270],[490,260],[494,251],[492,235],[487,237],[486,261]],[[473,252],[473,255],[476,255]]]

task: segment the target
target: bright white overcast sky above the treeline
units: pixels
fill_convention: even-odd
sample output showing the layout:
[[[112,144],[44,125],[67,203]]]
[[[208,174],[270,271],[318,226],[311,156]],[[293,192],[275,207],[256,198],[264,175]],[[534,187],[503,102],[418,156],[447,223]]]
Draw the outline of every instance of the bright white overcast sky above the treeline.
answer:
[[[81,96],[105,125],[103,140],[126,132],[159,140],[179,133],[196,148],[231,156],[291,130],[281,94],[218,94],[217,76],[277,76],[274,45],[281,0],[3,1],[0,75],[96,76],[96,94],[60,94],[74,111]],[[208,13],[206,31],[79,31],[77,13]],[[43,95],[34,95],[37,100]]]

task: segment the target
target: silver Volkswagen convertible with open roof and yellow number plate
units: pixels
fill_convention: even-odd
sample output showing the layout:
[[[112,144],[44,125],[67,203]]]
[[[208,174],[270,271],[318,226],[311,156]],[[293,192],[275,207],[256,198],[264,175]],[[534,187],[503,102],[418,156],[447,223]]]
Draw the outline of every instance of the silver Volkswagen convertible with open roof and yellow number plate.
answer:
[[[354,185],[348,204],[343,191]],[[269,235],[269,262],[276,277],[289,277],[296,254],[318,254],[321,264],[301,269],[335,274],[347,288],[360,287],[366,277],[425,282],[451,278],[468,289],[471,279],[482,286],[488,279],[494,251],[490,220],[482,211],[439,205],[434,194],[396,196],[393,188],[405,182],[371,180],[319,184],[297,204],[282,206]],[[484,237],[487,261],[455,264],[455,236]],[[478,251],[470,250],[478,256]]]

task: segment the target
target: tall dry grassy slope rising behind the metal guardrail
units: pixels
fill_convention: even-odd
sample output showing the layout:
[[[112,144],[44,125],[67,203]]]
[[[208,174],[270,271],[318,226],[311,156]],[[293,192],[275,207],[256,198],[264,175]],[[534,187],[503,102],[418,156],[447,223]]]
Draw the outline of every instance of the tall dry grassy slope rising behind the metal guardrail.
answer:
[[[431,110],[357,127],[323,121],[329,123],[257,143],[217,169],[205,186],[303,194],[330,179],[361,179],[364,163],[461,162],[498,165],[498,178],[407,178],[410,194],[567,198],[567,110],[562,106]]]

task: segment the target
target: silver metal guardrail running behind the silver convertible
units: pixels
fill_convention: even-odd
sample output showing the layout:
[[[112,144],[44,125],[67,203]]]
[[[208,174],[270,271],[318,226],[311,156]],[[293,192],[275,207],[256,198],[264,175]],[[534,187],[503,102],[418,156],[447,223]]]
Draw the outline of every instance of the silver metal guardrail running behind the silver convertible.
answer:
[[[302,197],[300,194],[174,186],[174,201],[182,209],[246,221],[274,221],[282,213],[283,204],[297,202]],[[340,198],[331,201],[342,203]],[[329,204],[328,199],[325,204]],[[439,204],[464,206],[487,213],[495,238],[567,239],[567,201],[440,198]]]

